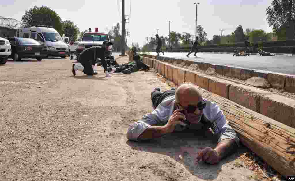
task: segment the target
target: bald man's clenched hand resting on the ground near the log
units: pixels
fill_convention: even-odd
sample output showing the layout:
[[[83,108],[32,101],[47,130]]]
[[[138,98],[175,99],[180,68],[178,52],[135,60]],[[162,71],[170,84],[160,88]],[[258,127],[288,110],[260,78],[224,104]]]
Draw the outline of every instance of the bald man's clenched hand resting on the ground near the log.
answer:
[[[198,152],[196,162],[199,162],[199,160],[201,159],[209,164],[217,164],[220,161],[219,154],[217,153],[217,151],[213,150],[210,147],[206,147]]]

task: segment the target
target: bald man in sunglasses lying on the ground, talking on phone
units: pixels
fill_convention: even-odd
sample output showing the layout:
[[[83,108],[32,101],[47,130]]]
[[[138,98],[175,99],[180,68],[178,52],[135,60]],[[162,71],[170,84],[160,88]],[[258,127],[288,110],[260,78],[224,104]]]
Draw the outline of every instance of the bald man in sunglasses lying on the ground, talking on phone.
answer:
[[[173,131],[212,128],[218,136],[218,144],[212,149],[206,147],[198,152],[197,160],[216,164],[239,146],[239,138],[227,124],[219,106],[202,98],[194,84],[184,83],[175,90],[161,92],[155,88],[151,95],[153,112],[145,114],[133,123],[127,131],[127,138],[133,141],[150,140]]]

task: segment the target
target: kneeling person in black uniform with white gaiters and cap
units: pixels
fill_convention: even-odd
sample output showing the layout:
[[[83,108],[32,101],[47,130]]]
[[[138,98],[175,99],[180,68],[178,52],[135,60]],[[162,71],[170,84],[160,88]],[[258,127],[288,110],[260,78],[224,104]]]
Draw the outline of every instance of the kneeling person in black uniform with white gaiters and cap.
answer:
[[[107,63],[106,63],[106,46],[112,45],[112,42],[104,41],[102,47],[90,47],[88,49],[83,50],[83,52],[79,55],[79,62],[81,64],[73,64],[72,72],[76,75],[76,71],[80,70],[84,72],[86,75],[95,75],[97,72],[94,72],[93,67],[97,63],[97,59],[101,60],[101,64],[104,67],[104,72],[106,73],[106,77],[110,77],[109,72],[107,71]]]

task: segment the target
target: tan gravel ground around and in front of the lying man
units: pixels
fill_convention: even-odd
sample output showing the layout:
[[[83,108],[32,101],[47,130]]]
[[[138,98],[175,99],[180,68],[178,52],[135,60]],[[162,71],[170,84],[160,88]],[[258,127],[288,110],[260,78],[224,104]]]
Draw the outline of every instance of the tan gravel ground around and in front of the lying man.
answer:
[[[0,180],[260,180],[240,159],[245,147],[196,164],[198,150],[216,146],[209,131],[128,141],[128,126],[152,111],[150,92],[171,84],[152,71],[73,76],[74,62],[0,66]]]

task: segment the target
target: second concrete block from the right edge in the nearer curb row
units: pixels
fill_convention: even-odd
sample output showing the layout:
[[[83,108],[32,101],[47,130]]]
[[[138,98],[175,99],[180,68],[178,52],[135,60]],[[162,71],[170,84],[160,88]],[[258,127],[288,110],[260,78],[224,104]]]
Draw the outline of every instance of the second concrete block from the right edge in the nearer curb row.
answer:
[[[242,84],[231,84],[229,89],[231,101],[256,112],[260,112],[260,97],[270,94],[273,93]]]

